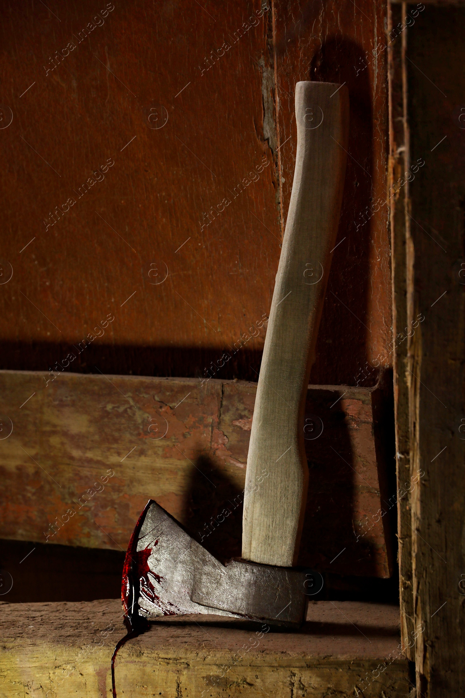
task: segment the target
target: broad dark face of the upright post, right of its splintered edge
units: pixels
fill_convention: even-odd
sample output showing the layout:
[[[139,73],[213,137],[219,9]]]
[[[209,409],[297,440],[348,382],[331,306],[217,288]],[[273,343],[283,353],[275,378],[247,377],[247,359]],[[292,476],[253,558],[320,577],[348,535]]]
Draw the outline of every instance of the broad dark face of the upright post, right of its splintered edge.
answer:
[[[425,625],[416,640],[417,695],[445,697],[465,685],[465,52],[464,8],[429,6],[409,30],[411,181],[409,339],[411,469],[426,475],[413,491],[413,602]],[[434,51],[430,50],[434,42]]]

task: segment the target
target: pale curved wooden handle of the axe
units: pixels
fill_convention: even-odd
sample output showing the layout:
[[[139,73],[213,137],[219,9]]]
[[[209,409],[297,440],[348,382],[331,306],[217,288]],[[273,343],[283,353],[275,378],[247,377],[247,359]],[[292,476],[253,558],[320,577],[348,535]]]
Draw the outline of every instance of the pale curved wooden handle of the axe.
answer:
[[[296,563],[307,499],[303,421],[318,326],[340,218],[349,91],[296,84],[294,184],[255,400],[242,556]]]

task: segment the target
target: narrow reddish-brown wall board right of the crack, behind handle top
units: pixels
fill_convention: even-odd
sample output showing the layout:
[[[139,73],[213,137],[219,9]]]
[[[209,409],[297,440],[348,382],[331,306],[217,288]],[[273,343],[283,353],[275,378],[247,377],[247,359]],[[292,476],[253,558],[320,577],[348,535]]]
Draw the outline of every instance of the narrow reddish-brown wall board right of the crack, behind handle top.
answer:
[[[365,362],[376,366],[379,355],[383,366],[392,366],[387,4],[276,0],[273,8],[283,226],[296,161],[295,83],[322,80],[349,89],[349,156],[338,246],[310,380],[353,385]]]

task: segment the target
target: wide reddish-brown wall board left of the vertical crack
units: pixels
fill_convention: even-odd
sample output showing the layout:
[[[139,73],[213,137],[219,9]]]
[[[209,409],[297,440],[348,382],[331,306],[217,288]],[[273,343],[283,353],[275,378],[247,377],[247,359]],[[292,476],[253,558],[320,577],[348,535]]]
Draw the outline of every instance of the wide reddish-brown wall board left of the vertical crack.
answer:
[[[102,371],[146,375],[152,348],[155,375],[203,376],[267,312],[279,260],[273,99],[257,66],[269,13],[259,0],[135,0],[94,22],[105,4],[1,6],[14,114],[1,131],[1,255],[14,269],[1,360],[53,366],[112,312],[95,343]],[[95,371],[87,355],[76,363]]]

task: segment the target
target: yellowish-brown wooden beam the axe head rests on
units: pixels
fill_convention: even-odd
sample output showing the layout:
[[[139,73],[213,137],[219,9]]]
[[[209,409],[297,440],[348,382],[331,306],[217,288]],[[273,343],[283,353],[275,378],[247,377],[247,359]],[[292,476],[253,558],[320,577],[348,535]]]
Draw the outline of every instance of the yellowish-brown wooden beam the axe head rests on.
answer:
[[[0,610],[2,698],[111,696],[110,660],[125,634],[119,601],[0,604]],[[398,612],[382,604],[317,602],[294,633],[219,618],[202,623],[199,616],[156,623],[119,652],[117,695],[349,698],[368,675],[366,698],[406,698],[411,684]]]

